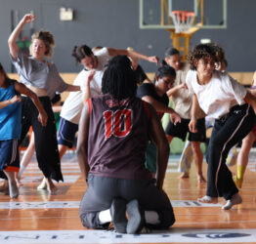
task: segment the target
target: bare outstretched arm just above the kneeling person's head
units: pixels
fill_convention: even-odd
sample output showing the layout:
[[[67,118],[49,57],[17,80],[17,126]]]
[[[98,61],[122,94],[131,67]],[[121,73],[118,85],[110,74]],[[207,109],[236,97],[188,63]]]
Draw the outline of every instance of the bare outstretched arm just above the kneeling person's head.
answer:
[[[112,49],[112,48],[107,48],[108,54],[110,56],[117,56],[117,55],[126,55],[132,59],[138,59],[138,60],[145,60],[145,61],[150,61],[150,62],[155,62],[156,65],[158,64],[159,58],[156,56],[146,56],[140,53],[137,53],[133,50],[124,50],[124,49]]]

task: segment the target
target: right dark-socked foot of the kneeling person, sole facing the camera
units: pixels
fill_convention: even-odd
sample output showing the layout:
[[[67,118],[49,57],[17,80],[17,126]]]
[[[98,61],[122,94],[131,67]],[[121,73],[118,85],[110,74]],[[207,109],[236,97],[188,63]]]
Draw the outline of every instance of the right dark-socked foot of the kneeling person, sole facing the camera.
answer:
[[[134,199],[127,203],[126,210],[128,213],[129,221],[126,227],[128,234],[137,234],[143,229],[145,225],[143,211],[140,210],[139,202]]]

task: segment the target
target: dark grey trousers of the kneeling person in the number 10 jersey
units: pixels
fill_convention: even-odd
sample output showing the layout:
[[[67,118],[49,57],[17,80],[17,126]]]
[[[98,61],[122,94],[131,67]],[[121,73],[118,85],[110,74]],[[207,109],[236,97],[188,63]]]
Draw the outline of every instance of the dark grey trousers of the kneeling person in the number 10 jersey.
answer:
[[[155,211],[160,224],[146,224],[149,228],[165,229],[175,223],[173,208],[168,196],[152,181],[127,180],[89,175],[88,189],[80,203],[82,224],[89,228],[107,228],[100,224],[99,213],[110,208],[113,198],[127,202],[137,199],[144,211]]]

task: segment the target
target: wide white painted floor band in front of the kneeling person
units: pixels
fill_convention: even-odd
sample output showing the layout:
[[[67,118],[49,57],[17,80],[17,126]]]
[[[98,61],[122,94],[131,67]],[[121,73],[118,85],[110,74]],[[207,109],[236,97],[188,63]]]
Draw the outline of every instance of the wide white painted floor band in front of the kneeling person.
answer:
[[[77,243],[255,243],[256,229],[170,228],[145,234],[118,234],[106,230],[0,231],[1,244]]]

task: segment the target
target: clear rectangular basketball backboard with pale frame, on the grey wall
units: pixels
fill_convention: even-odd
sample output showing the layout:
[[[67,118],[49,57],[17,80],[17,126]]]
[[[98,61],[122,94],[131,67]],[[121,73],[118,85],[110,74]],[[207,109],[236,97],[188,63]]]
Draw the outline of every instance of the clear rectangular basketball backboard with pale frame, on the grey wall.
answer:
[[[192,27],[227,28],[228,0],[140,0],[141,28],[174,28],[172,11],[194,12]]]

